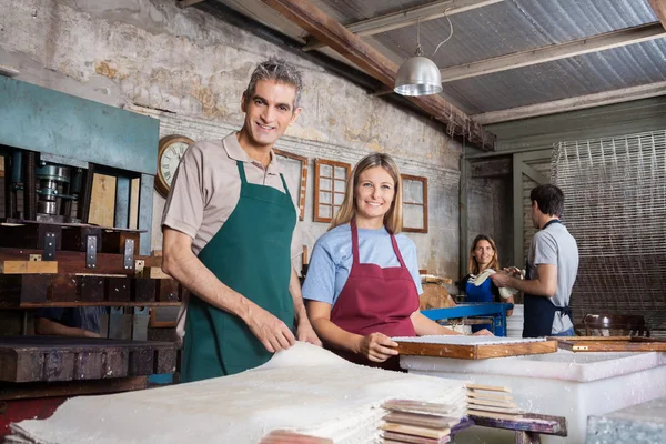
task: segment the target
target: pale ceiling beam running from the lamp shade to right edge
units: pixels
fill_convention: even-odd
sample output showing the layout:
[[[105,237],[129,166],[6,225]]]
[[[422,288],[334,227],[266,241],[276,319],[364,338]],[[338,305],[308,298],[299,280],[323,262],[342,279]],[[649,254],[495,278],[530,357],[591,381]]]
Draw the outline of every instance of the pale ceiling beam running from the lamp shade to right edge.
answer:
[[[444,68],[441,70],[442,82],[446,83],[454,80],[491,74],[493,72],[531,67],[533,64],[567,59],[571,57],[604,51],[612,48],[626,47],[628,44],[662,39],[665,37],[666,30],[659,22],[622,29],[619,31],[587,37],[581,40],[574,40],[558,44],[548,44],[546,47],[515,52],[513,54],[500,56],[472,63]]]

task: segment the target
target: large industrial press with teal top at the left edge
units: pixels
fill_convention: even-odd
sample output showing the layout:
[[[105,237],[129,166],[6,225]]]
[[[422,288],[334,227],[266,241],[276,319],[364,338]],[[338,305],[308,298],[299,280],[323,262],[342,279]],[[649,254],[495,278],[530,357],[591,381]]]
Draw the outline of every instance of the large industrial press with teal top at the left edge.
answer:
[[[182,290],[150,255],[159,121],[2,77],[0,97],[2,436],[67,397],[173,373],[174,343],[148,341],[149,310]],[[95,192],[101,176],[114,190]],[[109,223],[92,223],[100,209]],[[33,309],[81,306],[109,307],[101,339],[32,334]]]

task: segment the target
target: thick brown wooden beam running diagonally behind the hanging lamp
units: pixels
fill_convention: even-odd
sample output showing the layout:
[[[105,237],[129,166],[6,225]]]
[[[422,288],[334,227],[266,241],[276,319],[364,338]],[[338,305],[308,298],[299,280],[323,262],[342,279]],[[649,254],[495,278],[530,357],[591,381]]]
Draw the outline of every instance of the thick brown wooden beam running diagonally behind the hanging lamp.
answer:
[[[364,42],[335,19],[304,0],[262,0],[282,16],[326,43],[367,74],[387,87],[395,84],[398,65]],[[486,151],[493,150],[495,135],[475,123],[463,111],[441,95],[407,98],[433,118],[446,124],[450,134],[464,137],[471,144]]]

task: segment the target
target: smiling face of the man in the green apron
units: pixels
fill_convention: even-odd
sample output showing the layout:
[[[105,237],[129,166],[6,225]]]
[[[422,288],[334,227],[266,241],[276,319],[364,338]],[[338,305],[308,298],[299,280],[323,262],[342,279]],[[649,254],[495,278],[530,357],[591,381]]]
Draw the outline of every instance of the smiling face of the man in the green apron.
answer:
[[[274,80],[256,82],[250,98],[243,93],[241,109],[245,113],[245,130],[255,148],[272,148],[287,127],[295,122],[301,112],[300,108],[294,109],[296,89],[293,85]]]

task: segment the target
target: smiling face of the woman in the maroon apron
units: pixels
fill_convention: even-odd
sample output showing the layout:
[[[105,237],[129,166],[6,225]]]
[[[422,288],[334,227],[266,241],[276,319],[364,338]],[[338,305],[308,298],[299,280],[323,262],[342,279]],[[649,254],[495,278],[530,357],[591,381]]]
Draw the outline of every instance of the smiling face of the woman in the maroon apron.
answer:
[[[382,167],[370,168],[361,173],[354,189],[356,219],[384,221],[395,196],[395,182]]]

